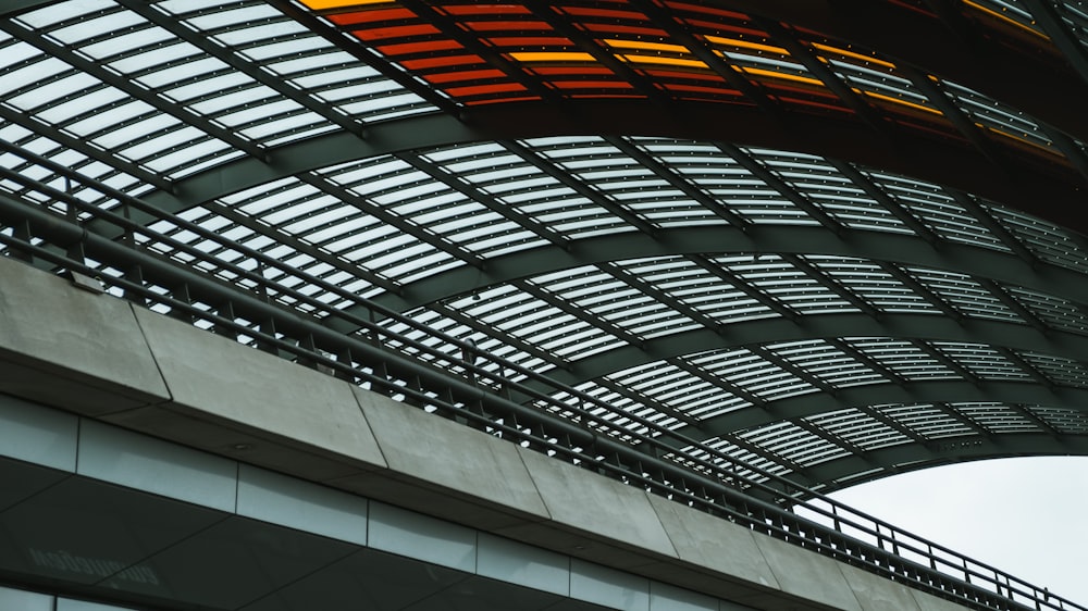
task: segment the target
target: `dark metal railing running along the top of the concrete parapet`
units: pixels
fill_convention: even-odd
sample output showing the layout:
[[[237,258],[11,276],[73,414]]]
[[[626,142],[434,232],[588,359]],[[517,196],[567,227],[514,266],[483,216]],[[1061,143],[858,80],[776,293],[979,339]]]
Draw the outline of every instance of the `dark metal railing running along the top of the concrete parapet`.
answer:
[[[623,417],[643,427],[643,432],[614,426],[591,411],[609,409],[607,404],[516,363],[485,353],[479,354],[482,359],[479,363],[465,362],[459,356],[472,348],[469,344],[434,332],[396,312],[386,312],[373,302],[322,283],[320,278],[307,277],[307,280],[371,311],[380,311],[383,317],[390,316],[437,342],[394,333],[370,320],[330,310],[324,303],[298,291],[279,285],[270,286],[263,276],[252,270],[214,260],[196,248],[153,234],[145,226],[127,221],[123,214],[89,205],[29,178],[17,175],[8,177],[54,198],[69,210],[77,211],[84,222],[97,219],[114,224],[123,232],[153,235],[157,241],[228,270],[236,277],[248,279],[258,287],[288,295],[300,303],[317,308],[326,316],[345,319],[360,331],[351,335],[334,332],[313,317],[274,304],[267,296],[255,295],[139,248],[90,234],[79,222],[73,221],[75,215],[65,219],[38,204],[0,196],[0,220],[18,226],[22,233],[27,234],[14,235],[13,232],[9,236],[0,233],[0,244],[13,252],[28,253],[64,270],[100,275],[109,288],[122,291],[125,298],[160,307],[175,316],[203,321],[218,329],[228,329],[251,338],[250,342],[268,351],[309,366],[322,367],[372,390],[434,410],[445,417],[528,444],[533,449],[554,452],[583,467],[966,607],[1086,610],[1051,595],[1044,588],[898,529],[789,478],[741,463],[634,414],[621,412]],[[81,179],[77,175],[72,178]],[[99,184],[94,188],[107,190]],[[135,198],[118,192],[107,195],[119,200],[123,204],[122,210],[125,205],[140,208],[174,225],[195,230],[201,237],[243,251],[256,263],[298,274],[260,252],[245,251],[239,245],[213,232],[157,211]],[[88,264],[85,260],[88,257],[101,266]],[[104,267],[118,271],[138,269],[139,273],[126,276],[123,272],[113,272],[103,276]],[[243,320],[245,322],[239,322]],[[260,328],[269,325],[274,332]],[[552,392],[529,388],[524,384],[527,379],[547,384]],[[510,400],[511,392],[531,398],[532,404]],[[559,400],[556,396],[570,399]],[[561,412],[566,416],[560,417],[553,412]],[[713,460],[679,453],[662,441],[666,436],[698,448]],[[638,447],[617,439],[623,437],[638,441]],[[803,508],[814,518],[799,515],[780,503]]]

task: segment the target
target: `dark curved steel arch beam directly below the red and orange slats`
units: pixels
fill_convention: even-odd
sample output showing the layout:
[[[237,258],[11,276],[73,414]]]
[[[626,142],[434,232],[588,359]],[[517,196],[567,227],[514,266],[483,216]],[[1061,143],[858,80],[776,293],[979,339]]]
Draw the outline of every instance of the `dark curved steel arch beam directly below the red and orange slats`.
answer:
[[[670,107],[672,108],[672,107]],[[518,140],[582,134],[630,134],[722,141],[794,150],[911,176],[1022,210],[1088,235],[1084,178],[1073,169],[1028,172],[1011,179],[985,155],[920,135],[894,144],[874,138],[852,122],[798,115],[791,129],[766,113],[734,105],[684,102],[669,112],[639,101],[580,101],[558,108],[540,103],[494,104],[463,116],[411,116],[371,125],[367,138],[338,132],[243,158],[180,179],[173,192],[148,194],[165,212],[178,212],[247,188],[349,161],[474,141]],[[577,111],[577,112],[572,112]],[[97,229],[106,237],[108,229]]]

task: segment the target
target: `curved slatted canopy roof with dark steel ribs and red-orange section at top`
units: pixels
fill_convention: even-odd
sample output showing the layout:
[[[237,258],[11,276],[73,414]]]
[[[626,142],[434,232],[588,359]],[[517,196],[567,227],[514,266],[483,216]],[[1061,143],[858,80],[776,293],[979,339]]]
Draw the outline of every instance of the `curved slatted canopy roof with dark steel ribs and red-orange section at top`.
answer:
[[[812,490],[1088,454],[1079,3],[4,11],[4,254]]]

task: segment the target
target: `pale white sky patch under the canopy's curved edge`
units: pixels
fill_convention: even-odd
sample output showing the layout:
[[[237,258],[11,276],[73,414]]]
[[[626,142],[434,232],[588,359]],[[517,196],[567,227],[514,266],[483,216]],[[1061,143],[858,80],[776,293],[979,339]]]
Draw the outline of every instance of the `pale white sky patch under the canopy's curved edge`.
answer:
[[[829,495],[1088,607],[1088,458],[927,469]]]

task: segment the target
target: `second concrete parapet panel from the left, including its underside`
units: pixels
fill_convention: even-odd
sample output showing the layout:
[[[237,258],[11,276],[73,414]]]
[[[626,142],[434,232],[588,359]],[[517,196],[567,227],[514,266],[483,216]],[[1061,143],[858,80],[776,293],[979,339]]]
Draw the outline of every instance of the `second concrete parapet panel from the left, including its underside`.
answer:
[[[106,420],[324,482],[384,469],[346,383],[133,308],[170,399]]]

